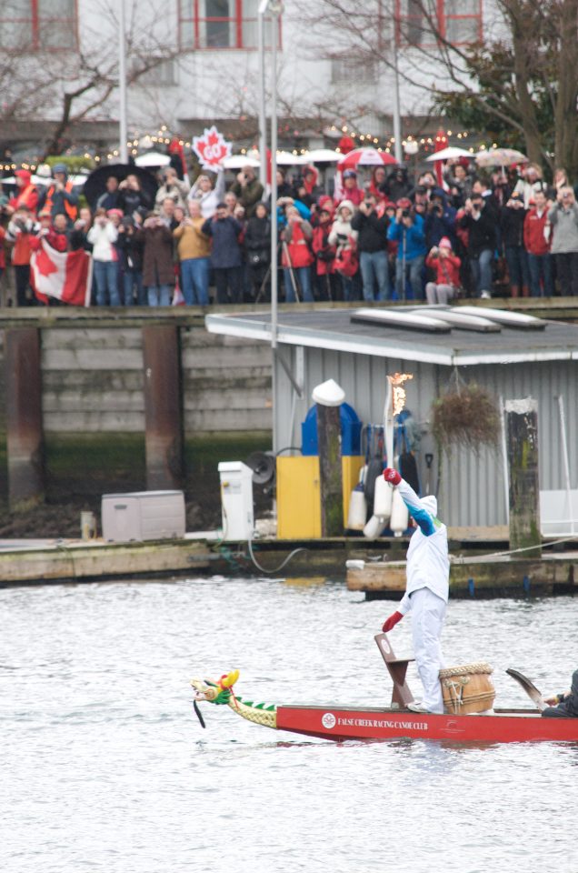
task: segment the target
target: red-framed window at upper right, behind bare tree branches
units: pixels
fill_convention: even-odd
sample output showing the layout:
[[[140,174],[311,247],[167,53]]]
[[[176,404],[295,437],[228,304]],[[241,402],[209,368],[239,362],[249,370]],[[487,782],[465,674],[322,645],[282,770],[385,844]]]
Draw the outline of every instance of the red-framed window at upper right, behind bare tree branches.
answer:
[[[427,47],[441,40],[473,45],[483,37],[483,0],[395,0],[397,45]]]

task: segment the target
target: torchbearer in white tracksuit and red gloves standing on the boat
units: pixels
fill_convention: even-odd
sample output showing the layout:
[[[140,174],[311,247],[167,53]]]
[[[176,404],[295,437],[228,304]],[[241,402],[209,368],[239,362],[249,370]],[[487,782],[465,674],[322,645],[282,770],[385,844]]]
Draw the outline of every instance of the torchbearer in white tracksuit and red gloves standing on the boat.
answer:
[[[450,584],[447,527],[436,517],[437,500],[433,495],[418,497],[392,467],[384,470],[384,477],[399,489],[417,529],[407,549],[404,597],[383,629],[384,633],[390,631],[411,610],[415,664],[424,686],[424,699],[411,703],[409,708],[414,712],[443,713],[439,672],[443,668],[440,637]]]

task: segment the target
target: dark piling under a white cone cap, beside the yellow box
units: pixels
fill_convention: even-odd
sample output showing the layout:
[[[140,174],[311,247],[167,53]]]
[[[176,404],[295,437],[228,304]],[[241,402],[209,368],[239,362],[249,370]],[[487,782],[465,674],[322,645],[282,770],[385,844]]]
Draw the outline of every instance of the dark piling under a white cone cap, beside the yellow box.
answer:
[[[344,497],[339,406],[316,406],[321,536],[340,537],[344,532]]]

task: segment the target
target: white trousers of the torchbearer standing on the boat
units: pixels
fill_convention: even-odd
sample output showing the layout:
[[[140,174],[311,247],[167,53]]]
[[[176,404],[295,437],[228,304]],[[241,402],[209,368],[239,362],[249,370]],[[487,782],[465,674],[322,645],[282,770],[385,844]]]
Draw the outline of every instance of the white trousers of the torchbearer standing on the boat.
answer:
[[[443,712],[442,685],[439,673],[443,669],[440,644],[447,604],[429,588],[419,588],[410,597],[412,633],[417,672],[424,686],[423,704],[430,712]]]

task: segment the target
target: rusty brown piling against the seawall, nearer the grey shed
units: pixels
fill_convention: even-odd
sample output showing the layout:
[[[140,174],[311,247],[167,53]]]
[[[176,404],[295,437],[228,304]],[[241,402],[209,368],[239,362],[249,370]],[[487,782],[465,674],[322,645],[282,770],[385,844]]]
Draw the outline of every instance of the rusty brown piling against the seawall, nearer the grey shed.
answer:
[[[178,328],[143,327],[146,487],[184,487],[183,400]]]

